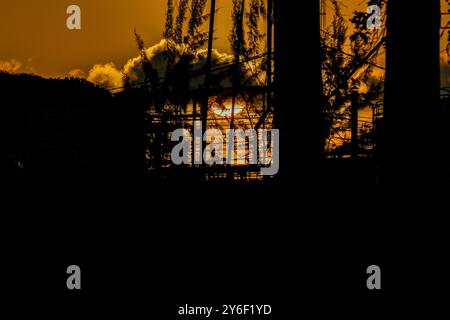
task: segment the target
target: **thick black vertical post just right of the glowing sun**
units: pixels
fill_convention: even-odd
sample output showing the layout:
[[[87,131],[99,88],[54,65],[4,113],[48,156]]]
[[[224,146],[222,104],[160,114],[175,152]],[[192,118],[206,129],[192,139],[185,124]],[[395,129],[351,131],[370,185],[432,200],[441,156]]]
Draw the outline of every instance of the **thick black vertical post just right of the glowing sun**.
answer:
[[[322,174],[319,164],[323,136],[320,2],[274,0],[273,4],[274,120],[280,128],[281,143],[279,176],[288,183],[316,185]],[[307,50],[297,49],[293,39],[299,34],[302,47]],[[296,147],[299,140],[301,148]]]

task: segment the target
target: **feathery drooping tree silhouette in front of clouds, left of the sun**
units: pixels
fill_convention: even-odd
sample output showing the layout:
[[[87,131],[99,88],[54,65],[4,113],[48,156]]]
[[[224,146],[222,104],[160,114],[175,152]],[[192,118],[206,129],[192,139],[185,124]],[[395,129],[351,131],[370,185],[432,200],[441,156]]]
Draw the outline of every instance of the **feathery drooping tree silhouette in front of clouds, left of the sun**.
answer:
[[[199,58],[199,49],[208,39],[208,34],[201,30],[209,17],[209,14],[204,14],[206,2],[206,0],[180,0],[174,5],[172,0],[167,1],[163,32],[167,57],[164,77],[158,76],[147,56],[142,37],[135,33],[145,74],[144,86],[138,90],[146,91],[148,96],[147,102],[144,102],[148,107],[143,111],[143,116],[145,157],[150,169],[158,170],[163,166],[172,147],[170,134],[175,129],[188,125],[181,116],[186,114],[187,105],[193,99],[190,91],[193,62]],[[135,96],[137,93],[130,94]],[[140,98],[139,100],[142,101]]]

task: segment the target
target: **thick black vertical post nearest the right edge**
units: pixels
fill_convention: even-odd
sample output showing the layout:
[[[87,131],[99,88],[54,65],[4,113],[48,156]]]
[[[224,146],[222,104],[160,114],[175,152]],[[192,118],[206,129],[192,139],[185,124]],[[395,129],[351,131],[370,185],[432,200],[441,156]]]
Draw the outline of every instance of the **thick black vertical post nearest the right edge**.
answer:
[[[415,6],[387,2],[386,81],[382,161],[384,184],[419,190],[439,183],[440,1],[420,3],[417,32],[410,19]],[[411,44],[414,54],[411,54]],[[420,63],[417,62],[420,57]],[[413,67],[412,67],[413,66]],[[411,79],[415,87],[411,88]],[[413,138],[409,138],[412,136]]]

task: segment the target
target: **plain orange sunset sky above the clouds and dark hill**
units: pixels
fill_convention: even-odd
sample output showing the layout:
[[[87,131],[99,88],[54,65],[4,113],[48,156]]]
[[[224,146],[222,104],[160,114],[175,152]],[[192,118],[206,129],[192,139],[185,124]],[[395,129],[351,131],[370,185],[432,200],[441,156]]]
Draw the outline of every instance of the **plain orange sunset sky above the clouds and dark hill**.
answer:
[[[166,3],[167,0],[4,1],[0,10],[0,70],[64,77],[72,70],[81,70],[87,76],[95,64],[112,62],[120,68],[138,55],[135,28],[148,47],[161,40]],[[366,6],[362,0],[342,3],[346,17]],[[445,0],[442,3],[444,11]],[[66,8],[71,4],[82,10],[81,30],[66,28]],[[220,11],[214,47],[226,53],[230,51],[232,1],[217,0],[217,7]],[[329,13],[328,20],[331,10]],[[445,48],[446,36],[442,45]],[[443,68],[447,69],[444,64]]]

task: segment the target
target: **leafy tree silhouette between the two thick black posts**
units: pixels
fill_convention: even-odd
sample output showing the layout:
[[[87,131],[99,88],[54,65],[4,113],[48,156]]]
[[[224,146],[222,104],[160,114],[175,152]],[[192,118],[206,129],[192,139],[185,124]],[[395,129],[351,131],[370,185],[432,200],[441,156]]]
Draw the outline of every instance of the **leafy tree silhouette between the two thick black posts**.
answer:
[[[354,92],[358,92],[360,109],[372,106],[372,100],[381,96],[383,81],[373,82],[371,74],[374,68],[378,68],[376,60],[383,49],[386,35],[384,26],[380,30],[367,29],[366,22],[369,14],[365,11],[354,12],[350,19],[353,31],[349,34],[340,3],[334,0],[331,3],[334,7],[333,21],[326,30],[322,31],[324,34],[322,38],[324,151],[330,151],[333,148],[331,144],[335,136],[344,136],[349,130],[348,119],[352,116],[350,100]],[[368,4],[374,3],[368,1]],[[376,5],[384,8],[383,1],[378,1]],[[382,21],[385,19],[383,18]],[[346,49],[347,45],[350,49]],[[367,90],[361,91],[361,88],[367,88]]]

